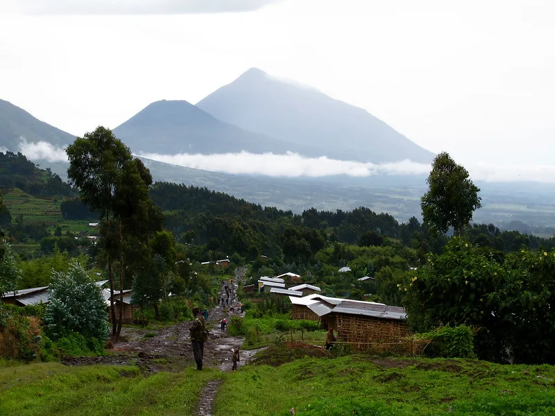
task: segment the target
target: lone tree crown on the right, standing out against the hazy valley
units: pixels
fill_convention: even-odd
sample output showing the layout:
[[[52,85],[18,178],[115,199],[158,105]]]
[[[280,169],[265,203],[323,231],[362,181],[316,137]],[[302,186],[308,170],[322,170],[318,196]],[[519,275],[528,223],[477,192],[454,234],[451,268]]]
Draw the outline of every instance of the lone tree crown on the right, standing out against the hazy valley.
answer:
[[[481,207],[480,189],[468,176],[466,168],[456,164],[448,153],[436,156],[426,180],[429,191],[420,202],[425,224],[442,233],[453,227],[456,234],[461,234],[472,213]]]

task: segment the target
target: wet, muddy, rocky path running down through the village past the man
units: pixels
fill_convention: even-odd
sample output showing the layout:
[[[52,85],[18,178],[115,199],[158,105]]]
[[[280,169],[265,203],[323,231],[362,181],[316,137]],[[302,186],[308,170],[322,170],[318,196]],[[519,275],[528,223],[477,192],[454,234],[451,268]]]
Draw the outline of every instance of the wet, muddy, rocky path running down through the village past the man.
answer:
[[[221,331],[220,321],[230,321],[233,316],[244,316],[239,307],[237,288],[239,281],[244,279],[245,268],[237,268],[232,281],[227,281],[220,288],[219,297],[227,299],[225,285],[229,289],[228,304],[219,304],[209,311],[207,328],[210,336],[205,343],[204,366],[217,367],[221,371],[232,368],[233,350],[240,348],[243,338],[228,336],[227,329]],[[233,311],[232,311],[233,310]],[[63,358],[66,365],[112,364],[137,365],[144,372],[182,371],[193,366],[193,351],[189,338],[190,322],[179,322],[168,327],[141,329],[123,327],[118,343],[100,357],[69,357]],[[239,366],[245,365],[256,353],[241,351]]]

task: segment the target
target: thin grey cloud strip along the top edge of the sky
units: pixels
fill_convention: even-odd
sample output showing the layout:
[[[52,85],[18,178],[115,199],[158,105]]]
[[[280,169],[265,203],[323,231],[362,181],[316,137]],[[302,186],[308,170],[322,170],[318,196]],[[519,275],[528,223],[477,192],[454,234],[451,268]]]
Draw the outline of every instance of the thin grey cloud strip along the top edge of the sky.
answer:
[[[19,0],[36,15],[177,15],[246,12],[281,0]]]

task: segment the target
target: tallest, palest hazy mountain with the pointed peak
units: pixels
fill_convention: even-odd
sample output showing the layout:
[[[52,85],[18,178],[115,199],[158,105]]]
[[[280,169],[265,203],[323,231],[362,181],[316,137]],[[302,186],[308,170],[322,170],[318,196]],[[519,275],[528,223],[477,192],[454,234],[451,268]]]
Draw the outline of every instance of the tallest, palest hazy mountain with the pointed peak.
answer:
[[[358,107],[251,68],[197,103],[216,119],[361,162],[431,162],[434,155]],[[343,158],[343,157],[342,157]]]

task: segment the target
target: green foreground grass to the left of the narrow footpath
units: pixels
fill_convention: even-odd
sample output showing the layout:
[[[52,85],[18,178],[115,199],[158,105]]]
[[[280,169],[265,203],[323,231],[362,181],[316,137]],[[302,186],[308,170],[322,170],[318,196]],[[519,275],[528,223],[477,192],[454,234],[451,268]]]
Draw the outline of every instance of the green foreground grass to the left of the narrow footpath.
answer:
[[[200,390],[217,370],[159,372],[135,367],[0,367],[0,415],[192,415]]]

